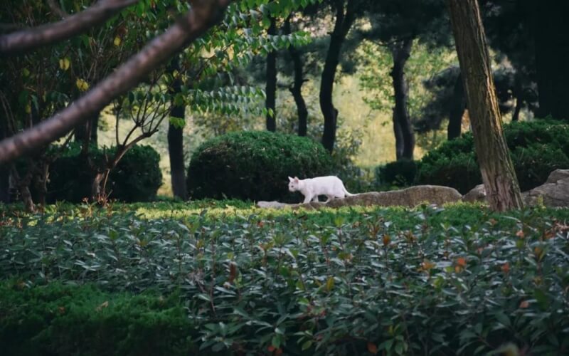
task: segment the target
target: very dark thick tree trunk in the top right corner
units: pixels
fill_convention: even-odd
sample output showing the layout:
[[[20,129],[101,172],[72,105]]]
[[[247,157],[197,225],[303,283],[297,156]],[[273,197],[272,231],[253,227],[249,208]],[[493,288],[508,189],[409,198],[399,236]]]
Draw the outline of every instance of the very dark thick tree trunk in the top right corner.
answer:
[[[534,3],[537,115],[569,120],[569,1]]]

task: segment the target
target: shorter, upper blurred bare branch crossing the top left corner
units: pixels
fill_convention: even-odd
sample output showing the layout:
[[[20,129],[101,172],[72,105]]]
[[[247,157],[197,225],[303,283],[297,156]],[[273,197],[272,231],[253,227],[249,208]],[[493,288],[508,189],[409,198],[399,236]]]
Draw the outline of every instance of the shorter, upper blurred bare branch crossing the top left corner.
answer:
[[[85,11],[62,21],[0,36],[0,56],[31,51],[73,37],[110,19],[111,16],[139,0],[101,0]]]

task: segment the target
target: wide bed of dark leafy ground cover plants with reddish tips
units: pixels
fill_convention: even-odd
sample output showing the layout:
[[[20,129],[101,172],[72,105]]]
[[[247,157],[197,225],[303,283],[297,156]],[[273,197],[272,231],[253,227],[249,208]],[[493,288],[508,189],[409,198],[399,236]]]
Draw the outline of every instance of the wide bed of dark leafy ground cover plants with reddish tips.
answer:
[[[145,330],[174,330],[155,354],[569,350],[568,209],[270,211],[199,201],[60,205],[43,215],[4,209],[1,216],[4,347],[14,347],[8,330],[30,320],[43,326],[20,334],[22,345],[86,330],[76,323],[88,310],[95,316],[87,325],[109,333],[112,318],[97,317],[97,308],[123,310],[128,325],[144,319],[129,304],[131,293],[143,293],[145,318],[166,315],[164,323],[140,322]],[[15,308],[38,303],[33,313]],[[136,333],[139,324],[132,325]],[[79,334],[85,347],[105,350],[100,334]],[[50,340],[45,354],[81,353],[72,339]]]

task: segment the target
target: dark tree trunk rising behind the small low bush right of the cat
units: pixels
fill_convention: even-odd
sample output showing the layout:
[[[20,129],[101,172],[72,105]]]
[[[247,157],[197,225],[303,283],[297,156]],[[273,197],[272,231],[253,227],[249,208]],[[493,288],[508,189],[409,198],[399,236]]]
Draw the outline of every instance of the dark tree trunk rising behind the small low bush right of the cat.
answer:
[[[393,120],[398,122],[398,127],[403,139],[403,152],[398,159],[413,159],[415,150],[415,133],[409,117],[408,98],[409,88],[405,81],[405,64],[411,55],[413,38],[407,38],[391,46],[393,54],[393,68],[391,78],[393,78],[393,90],[395,92],[395,108],[393,108]],[[395,134],[397,142],[397,134]]]

